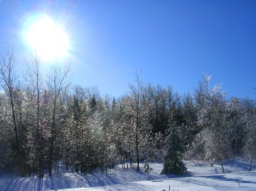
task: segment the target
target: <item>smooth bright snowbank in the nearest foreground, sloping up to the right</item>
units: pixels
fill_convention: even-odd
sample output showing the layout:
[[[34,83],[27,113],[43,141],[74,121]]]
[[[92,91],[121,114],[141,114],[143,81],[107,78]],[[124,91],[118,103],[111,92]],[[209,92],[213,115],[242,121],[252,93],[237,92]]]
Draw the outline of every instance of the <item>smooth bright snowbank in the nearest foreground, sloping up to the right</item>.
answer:
[[[100,191],[100,190],[256,190],[256,171],[239,172],[225,175],[207,175],[198,177],[172,178],[166,180],[140,181],[112,184],[104,187],[62,189],[61,191]],[[242,180],[241,180],[242,178]],[[240,181],[240,186],[238,183]]]

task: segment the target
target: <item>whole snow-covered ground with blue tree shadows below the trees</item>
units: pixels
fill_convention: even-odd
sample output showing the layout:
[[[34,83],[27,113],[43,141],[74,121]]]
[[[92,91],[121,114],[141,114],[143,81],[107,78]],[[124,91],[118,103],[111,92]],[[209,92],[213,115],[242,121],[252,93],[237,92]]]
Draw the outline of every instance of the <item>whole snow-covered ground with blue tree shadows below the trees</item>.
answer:
[[[108,175],[94,172],[83,176],[72,172],[44,178],[20,178],[12,174],[0,176],[0,190],[256,190],[256,165],[247,172],[248,163],[236,158],[224,163],[227,174],[221,174],[220,165],[209,166],[207,163],[185,162],[189,174],[184,176],[160,175],[163,164],[150,163],[153,168],[151,181],[143,172],[133,169],[122,169],[117,165]],[[141,167],[144,164],[141,164]],[[141,168],[143,171],[143,168]],[[239,185],[240,184],[240,185]],[[93,188],[92,188],[93,187]]]

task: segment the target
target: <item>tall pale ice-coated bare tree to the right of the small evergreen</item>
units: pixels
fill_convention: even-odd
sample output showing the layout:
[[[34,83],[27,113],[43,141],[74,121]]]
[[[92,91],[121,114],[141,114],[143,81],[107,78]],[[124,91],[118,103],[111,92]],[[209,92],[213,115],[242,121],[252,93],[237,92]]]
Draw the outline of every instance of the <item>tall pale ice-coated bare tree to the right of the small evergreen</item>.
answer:
[[[197,91],[198,104],[198,126],[201,127],[202,141],[204,143],[204,157],[213,163],[219,160],[221,169],[224,171],[223,160],[231,156],[231,132],[227,123],[225,92],[221,86],[209,87],[211,76],[203,75]]]

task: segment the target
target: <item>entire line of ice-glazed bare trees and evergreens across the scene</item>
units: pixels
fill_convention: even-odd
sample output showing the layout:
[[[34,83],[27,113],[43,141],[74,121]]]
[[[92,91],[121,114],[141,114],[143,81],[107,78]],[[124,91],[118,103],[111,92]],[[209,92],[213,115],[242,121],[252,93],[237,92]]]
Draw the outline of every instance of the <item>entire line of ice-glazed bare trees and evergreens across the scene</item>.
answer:
[[[251,170],[256,158],[255,101],[226,98],[220,86],[209,86],[210,76],[203,75],[193,94],[180,96],[170,86],[143,86],[136,71],[130,93],[116,99],[102,97],[97,88],[71,85],[69,67],[55,66],[45,73],[36,55],[24,63],[25,75],[18,77],[13,51],[2,53],[4,170],[42,177],[58,173],[64,163],[67,170],[82,174],[95,168],[107,174],[117,163],[138,171],[143,160],[182,166],[183,158],[201,159],[223,166],[223,160],[234,156],[248,160]],[[179,174],[175,168],[171,172]]]

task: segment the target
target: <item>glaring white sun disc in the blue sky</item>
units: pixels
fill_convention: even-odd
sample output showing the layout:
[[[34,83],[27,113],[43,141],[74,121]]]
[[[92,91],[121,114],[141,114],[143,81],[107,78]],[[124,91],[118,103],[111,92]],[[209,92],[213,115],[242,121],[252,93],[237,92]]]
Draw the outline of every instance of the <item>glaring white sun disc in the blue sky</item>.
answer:
[[[49,16],[38,17],[27,24],[24,34],[27,45],[45,61],[67,56],[67,34]]]

